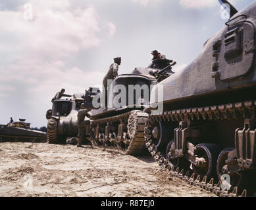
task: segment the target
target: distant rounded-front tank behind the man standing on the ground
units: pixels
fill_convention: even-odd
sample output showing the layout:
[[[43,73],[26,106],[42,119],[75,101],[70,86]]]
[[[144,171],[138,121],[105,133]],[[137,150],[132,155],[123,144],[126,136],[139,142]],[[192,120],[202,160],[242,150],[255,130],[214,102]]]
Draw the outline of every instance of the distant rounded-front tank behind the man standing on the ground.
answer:
[[[47,140],[49,143],[64,143],[67,137],[77,137],[77,114],[83,101],[84,95],[82,94],[75,94],[70,100],[53,101],[53,108],[46,113],[48,119]]]

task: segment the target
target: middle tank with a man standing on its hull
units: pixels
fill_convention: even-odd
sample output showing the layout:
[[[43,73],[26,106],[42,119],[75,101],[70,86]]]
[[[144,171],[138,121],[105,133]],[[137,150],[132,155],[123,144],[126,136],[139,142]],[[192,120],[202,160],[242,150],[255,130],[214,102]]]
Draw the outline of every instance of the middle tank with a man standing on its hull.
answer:
[[[148,105],[152,85],[173,74],[171,66],[176,62],[166,62],[169,63],[165,69],[136,68],[132,74],[118,75],[113,80],[111,91],[107,93],[107,107],[103,107],[105,96],[102,96],[101,104],[104,105],[92,111],[91,141],[100,146],[124,150],[130,155],[143,153],[144,128],[148,117],[143,109]],[[95,109],[95,104],[90,98],[97,104],[101,93],[98,89],[91,88],[86,95],[91,96],[86,96],[86,107]]]

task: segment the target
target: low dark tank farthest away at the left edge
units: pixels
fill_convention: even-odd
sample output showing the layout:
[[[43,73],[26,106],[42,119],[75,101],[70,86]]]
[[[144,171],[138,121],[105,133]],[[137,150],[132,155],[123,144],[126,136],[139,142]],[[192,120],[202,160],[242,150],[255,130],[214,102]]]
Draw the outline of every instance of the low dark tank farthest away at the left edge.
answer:
[[[30,129],[26,119],[19,119],[8,125],[0,125],[0,141],[46,142],[46,133]]]

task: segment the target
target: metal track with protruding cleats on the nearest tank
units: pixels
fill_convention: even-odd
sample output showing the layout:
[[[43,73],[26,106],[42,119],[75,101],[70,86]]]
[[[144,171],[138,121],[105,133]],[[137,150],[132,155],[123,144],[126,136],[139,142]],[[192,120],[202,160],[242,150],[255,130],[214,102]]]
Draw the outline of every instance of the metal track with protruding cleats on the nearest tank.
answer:
[[[219,106],[207,106],[201,108],[188,108],[183,110],[173,110],[163,112],[159,115],[151,115],[146,122],[145,127],[145,145],[151,156],[159,163],[159,165],[169,171],[170,175],[178,177],[181,180],[188,182],[193,186],[198,186],[204,190],[210,191],[220,197],[246,197],[247,190],[243,190],[242,194],[238,196],[238,187],[234,187],[231,191],[221,190],[221,182],[217,184],[215,180],[209,179],[207,183],[207,177],[195,177],[195,173],[190,171],[184,171],[184,169],[176,168],[168,165],[166,158],[157,150],[155,145],[152,143],[150,127],[153,122],[156,121],[184,121],[184,119],[203,119],[203,120],[221,120],[221,119],[232,119],[234,117],[242,116],[246,114],[253,115],[256,108],[256,101],[239,102],[235,104],[225,104]],[[202,179],[203,178],[203,179]]]

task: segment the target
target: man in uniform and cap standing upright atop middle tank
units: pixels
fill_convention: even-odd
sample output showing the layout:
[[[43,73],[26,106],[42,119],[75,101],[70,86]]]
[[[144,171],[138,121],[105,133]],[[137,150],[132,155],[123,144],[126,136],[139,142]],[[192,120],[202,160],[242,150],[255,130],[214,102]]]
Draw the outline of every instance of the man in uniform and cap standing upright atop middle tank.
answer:
[[[118,75],[118,67],[121,64],[121,57],[114,58],[114,63],[111,64],[109,67],[109,72],[105,75],[103,79],[103,87],[105,88],[105,102],[107,105],[107,92],[108,92],[108,87],[107,87],[107,81],[111,79],[112,81],[115,79],[115,77]]]

